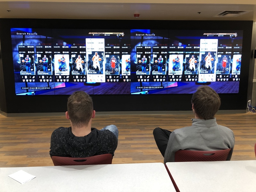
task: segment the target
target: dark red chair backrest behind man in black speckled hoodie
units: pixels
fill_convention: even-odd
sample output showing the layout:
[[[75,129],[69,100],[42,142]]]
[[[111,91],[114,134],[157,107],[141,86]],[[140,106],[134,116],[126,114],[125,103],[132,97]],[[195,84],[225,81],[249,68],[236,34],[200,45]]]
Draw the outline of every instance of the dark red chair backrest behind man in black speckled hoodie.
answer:
[[[112,154],[103,154],[84,158],[52,156],[54,166],[112,164],[112,159]]]

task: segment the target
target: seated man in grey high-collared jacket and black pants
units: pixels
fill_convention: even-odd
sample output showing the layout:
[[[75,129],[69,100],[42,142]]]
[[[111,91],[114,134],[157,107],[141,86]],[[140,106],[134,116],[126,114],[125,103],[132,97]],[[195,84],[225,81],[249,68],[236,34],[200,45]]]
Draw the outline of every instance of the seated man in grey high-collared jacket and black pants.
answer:
[[[156,145],[164,156],[164,163],[174,162],[178,150],[215,151],[231,148],[231,159],[235,136],[228,127],[218,125],[214,115],[220,108],[219,95],[209,86],[201,86],[193,94],[192,110],[195,118],[192,126],[176,129],[173,132],[155,128]]]

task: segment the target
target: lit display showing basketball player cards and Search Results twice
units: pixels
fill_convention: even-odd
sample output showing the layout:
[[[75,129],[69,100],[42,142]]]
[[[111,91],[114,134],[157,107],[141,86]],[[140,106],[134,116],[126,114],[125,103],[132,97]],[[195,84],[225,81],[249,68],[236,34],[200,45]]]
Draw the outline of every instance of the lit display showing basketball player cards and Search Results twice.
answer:
[[[11,28],[16,95],[238,93],[243,30]]]

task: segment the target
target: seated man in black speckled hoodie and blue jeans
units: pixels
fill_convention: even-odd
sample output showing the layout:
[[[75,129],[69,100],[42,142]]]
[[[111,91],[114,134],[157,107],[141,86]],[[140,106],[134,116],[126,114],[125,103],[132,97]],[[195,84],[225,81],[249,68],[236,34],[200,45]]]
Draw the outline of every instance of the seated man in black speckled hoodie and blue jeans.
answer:
[[[101,130],[91,128],[95,117],[92,98],[83,91],[76,91],[68,98],[70,127],[59,127],[52,132],[50,156],[89,157],[114,152],[118,130],[108,125]]]

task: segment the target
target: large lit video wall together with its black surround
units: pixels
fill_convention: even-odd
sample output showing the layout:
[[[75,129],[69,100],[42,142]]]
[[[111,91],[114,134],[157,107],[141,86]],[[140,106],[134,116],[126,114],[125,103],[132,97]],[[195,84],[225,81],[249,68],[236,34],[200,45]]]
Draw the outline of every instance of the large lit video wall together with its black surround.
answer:
[[[0,109],[63,112],[82,90],[97,111],[191,110],[205,84],[246,109],[253,22],[194,22],[0,19]]]

